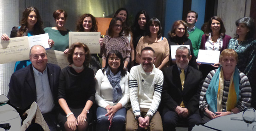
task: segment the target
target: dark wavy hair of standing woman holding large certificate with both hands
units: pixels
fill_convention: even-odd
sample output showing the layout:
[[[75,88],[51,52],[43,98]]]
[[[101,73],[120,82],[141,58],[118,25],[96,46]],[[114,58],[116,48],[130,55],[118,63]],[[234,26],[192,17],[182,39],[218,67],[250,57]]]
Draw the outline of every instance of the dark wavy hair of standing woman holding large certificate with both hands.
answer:
[[[79,18],[79,20],[76,23],[76,31],[78,31],[78,32],[83,32],[84,31],[83,20],[84,20],[85,17],[91,17],[92,18],[93,26],[92,26],[90,32],[98,32],[97,21],[96,21],[95,17],[92,14],[83,14]]]

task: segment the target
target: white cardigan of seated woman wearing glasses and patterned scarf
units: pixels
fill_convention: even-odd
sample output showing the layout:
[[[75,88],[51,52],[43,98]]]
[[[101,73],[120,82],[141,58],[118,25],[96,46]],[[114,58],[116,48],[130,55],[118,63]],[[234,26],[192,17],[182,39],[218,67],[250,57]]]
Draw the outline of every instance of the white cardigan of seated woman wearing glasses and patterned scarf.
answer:
[[[103,69],[99,69],[95,75],[95,102],[100,107],[105,108],[108,105],[114,106],[117,104],[117,102],[113,103],[113,87],[107,78],[106,71],[103,74],[102,70]],[[122,107],[127,106],[130,98],[128,76],[129,72],[127,72],[127,74],[121,78],[119,83],[122,89],[122,98],[118,101],[118,103],[121,103]]]

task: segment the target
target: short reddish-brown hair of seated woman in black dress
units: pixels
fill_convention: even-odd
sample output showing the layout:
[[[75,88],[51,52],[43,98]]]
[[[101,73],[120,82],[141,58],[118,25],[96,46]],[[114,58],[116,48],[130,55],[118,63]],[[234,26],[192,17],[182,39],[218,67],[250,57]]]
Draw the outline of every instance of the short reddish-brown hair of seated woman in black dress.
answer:
[[[83,44],[81,42],[76,42],[76,43],[72,44],[69,48],[68,61],[70,62],[70,65],[73,64],[73,54],[74,54],[74,51],[75,51],[76,47],[77,48],[82,47],[84,49],[85,59],[84,59],[84,62],[83,62],[83,66],[88,66],[88,64],[91,60],[90,50],[89,50],[89,48],[86,44]]]

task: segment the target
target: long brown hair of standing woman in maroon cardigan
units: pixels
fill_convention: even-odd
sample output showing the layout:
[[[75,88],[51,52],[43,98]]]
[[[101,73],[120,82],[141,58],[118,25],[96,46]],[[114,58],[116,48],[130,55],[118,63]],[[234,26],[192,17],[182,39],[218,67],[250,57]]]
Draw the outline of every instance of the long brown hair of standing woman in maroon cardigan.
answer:
[[[220,29],[219,35],[224,36],[225,33],[226,33],[226,29],[225,29],[225,27],[224,27],[224,24],[223,24],[221,18],[218,17],[218,16],[213,16],[213,17],[211,17],[211,18],[209,19],[208,24],[207,24],[207,27],[206,27],[206,30],[205,30],[205,35],[206,35],[206,36],[209,36],[210,33],[212,33],[212,30],[211,30],[211,23],[212,23],[212,20],[216,20],[216,21],[220,22],[220,24],[221,24],[221,29]]]

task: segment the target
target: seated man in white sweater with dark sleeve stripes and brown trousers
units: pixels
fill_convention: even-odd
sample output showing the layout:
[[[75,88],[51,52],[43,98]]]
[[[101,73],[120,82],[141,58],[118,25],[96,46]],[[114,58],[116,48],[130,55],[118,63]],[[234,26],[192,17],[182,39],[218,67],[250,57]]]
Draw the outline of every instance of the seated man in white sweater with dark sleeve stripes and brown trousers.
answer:
[[[126,131],[138,128],[163,131],[158,106],[161,101],[163,73],[157,69],[155,51],[151,47],[141,50],[141,64],[132,67],[129,76],[132,108],[127,112]]]

